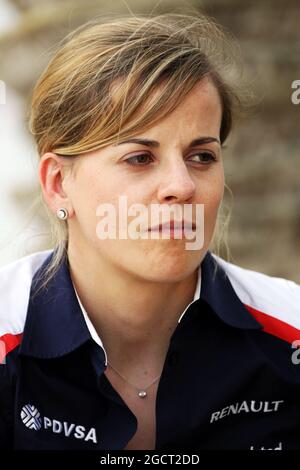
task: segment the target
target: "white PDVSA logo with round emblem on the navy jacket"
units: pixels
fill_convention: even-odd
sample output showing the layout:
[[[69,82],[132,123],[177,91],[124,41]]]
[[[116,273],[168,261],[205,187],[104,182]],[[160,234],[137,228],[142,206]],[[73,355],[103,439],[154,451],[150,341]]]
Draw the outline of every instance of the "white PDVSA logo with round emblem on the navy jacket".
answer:
[[[33,405],[25,405],[21,410],[21,419],[25,426],[34,431],[41,428],[54,434],[63,434],[65,437],[74,437],[75,439],[83,439],[84,441],[92,441],[97,444],[96,429],[86,429],[85,426],[68,423],[67,421],[59,421],[51,419],[47,416],[41,417],[38,409]]]

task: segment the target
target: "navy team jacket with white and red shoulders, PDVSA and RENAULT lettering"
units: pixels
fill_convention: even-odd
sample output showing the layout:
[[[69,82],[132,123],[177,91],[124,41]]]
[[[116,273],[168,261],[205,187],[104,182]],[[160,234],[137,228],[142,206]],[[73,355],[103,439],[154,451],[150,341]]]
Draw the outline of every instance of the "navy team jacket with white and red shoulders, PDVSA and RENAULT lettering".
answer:
[[[66,259],[37,292],[52,255],[0,270],[0,449],[123,449],[137,420],[103,373]],[[155,448],[300,449],[299,328],[298,284],[208,251],[165,358]]]

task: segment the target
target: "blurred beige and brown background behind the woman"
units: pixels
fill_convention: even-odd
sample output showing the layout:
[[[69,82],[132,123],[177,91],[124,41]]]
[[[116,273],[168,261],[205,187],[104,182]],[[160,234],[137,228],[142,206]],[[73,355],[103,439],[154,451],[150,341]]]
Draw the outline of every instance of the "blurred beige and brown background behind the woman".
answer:
[[[238,39],[257,103],[224,151],[234,194],[232,261],[300,283],[299,0],[0,0],[0,266],[49,247],[47,219],[28,212],[38,192],[27,131],[32,87],[66,33],[107,13],[200,8]],[[3,97],[5,99],[3,99]]]

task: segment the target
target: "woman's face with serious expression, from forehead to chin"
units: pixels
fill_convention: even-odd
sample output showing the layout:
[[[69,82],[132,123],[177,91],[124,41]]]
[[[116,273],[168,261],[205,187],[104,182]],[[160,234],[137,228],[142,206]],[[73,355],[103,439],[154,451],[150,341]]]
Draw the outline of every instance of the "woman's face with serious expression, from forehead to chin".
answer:
[[[210,81],[203,80],[169,116],[133,136],[157,141],[155,146],[119,143],[80,157],[75,171],[63,183],[72,207],[68,226],[74,253],[81,253],[83,258],[92,253],[95,260],[100,256],[114,267],[148,281],[176,282],[192,274],[207,252],[223,198],[220,125],[217,90]],[[211,142],[190,146],[193,140],[203,137],[212,138]],[[119,196],[126,200],[127,208],[143,204],[149,217],[152,204],[177,204],[182,208],[192,205],[192,220],[196,221],[196,205],[204,205],[204,228],[198,227],[204,230],[203,245],[187,249],[191,240],[163,239],[162,234],[159,239],[152,239],[150,234],[148,239],[120,239],[118,230],[115,239],[100,239],[97,208],[103,203],[112,205],[118,228]],[[126,213],[125,219],[129,223],[134,216]],[[151,225],[149,218],[146,226]]]

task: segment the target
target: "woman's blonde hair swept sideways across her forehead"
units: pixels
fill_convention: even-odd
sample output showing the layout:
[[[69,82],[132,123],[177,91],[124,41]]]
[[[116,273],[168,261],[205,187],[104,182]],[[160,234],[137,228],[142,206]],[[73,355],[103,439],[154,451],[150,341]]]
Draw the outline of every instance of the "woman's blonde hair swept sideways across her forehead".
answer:
[[[229,33],[202,13],[96,18],[68,34],[33,90],[29,128],[40,156],[74,159],[151,127],[167,116],[194,85],[209,78],[222,104],[220,140],[241,108],[236,85],[239,49]],[[111,86],[118,79],[112,99]],[[148,103],[160,85],[155,102]],[[143,107],[143,113],[138,110]],[[72,160],[71,160],[72,161]],[[67,253],[67,222],[51,219],[54,256],[49,281]],[[230,216],[230,214],[229,214]],[[223,235],[216,231],[216,254]]]

